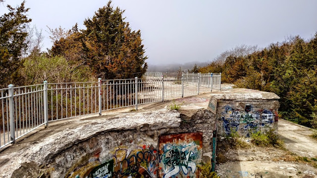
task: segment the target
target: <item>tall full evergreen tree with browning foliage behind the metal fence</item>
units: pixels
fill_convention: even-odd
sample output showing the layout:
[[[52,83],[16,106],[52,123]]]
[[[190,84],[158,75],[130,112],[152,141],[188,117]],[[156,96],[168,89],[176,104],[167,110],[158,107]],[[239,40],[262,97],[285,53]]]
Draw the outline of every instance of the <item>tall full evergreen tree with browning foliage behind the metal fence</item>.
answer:
[[[84,21],[87,62],[103,79],[142,77],[147,69],[141,32],[131,31],[123,12],[119,7],[114,9],[109,1],[93,18]]]

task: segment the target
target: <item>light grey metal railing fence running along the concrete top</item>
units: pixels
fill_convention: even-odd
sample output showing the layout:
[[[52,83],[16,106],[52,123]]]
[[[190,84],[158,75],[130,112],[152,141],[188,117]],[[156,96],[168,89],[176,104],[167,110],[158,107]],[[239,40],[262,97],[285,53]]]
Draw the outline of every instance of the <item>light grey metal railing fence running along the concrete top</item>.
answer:
[[[49,122],[210,92],[220,74],[146,73],[141,79],[48,83],[0,89],[0,148]]]

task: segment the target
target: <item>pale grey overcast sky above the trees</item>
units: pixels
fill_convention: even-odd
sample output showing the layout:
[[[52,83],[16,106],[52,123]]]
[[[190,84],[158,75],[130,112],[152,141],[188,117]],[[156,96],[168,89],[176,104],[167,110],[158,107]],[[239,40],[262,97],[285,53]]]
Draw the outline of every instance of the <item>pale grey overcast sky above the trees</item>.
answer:
[[[16,6],[22,0],[5,0]],[[106,0],[26,0],[32,25],[43,29],[44,48],[52,46],[50,28],[70,29],[91,18]],[[112,0],[125,9],[133,30],[141,30],[151,64],[211,61],[236,45],[265,47],[288,35],[304,39],[317,32],[317,0]]]

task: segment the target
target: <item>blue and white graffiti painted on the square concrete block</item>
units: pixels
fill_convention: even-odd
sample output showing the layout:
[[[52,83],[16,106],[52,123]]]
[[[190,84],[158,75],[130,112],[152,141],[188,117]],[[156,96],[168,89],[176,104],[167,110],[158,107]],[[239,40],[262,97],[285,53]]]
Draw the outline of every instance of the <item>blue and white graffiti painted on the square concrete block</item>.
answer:
[[[254,109],[252,105],[246,105],[244,110],[239,110],[233,106],[226,105],[221,112],[223,131],[225,134],[238,132],[244,136],[259,131],[260,127],[271,127],[276,122],[277,111],[267,109]]]

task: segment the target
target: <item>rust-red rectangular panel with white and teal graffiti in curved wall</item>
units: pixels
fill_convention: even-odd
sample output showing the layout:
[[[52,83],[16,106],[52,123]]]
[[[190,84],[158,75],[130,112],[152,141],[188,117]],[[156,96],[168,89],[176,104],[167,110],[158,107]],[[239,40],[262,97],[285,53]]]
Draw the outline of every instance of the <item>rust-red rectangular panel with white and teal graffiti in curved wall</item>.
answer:
[[[171,134],[159,137],[159,177],[196,178],[202,161],[202,133]]]

